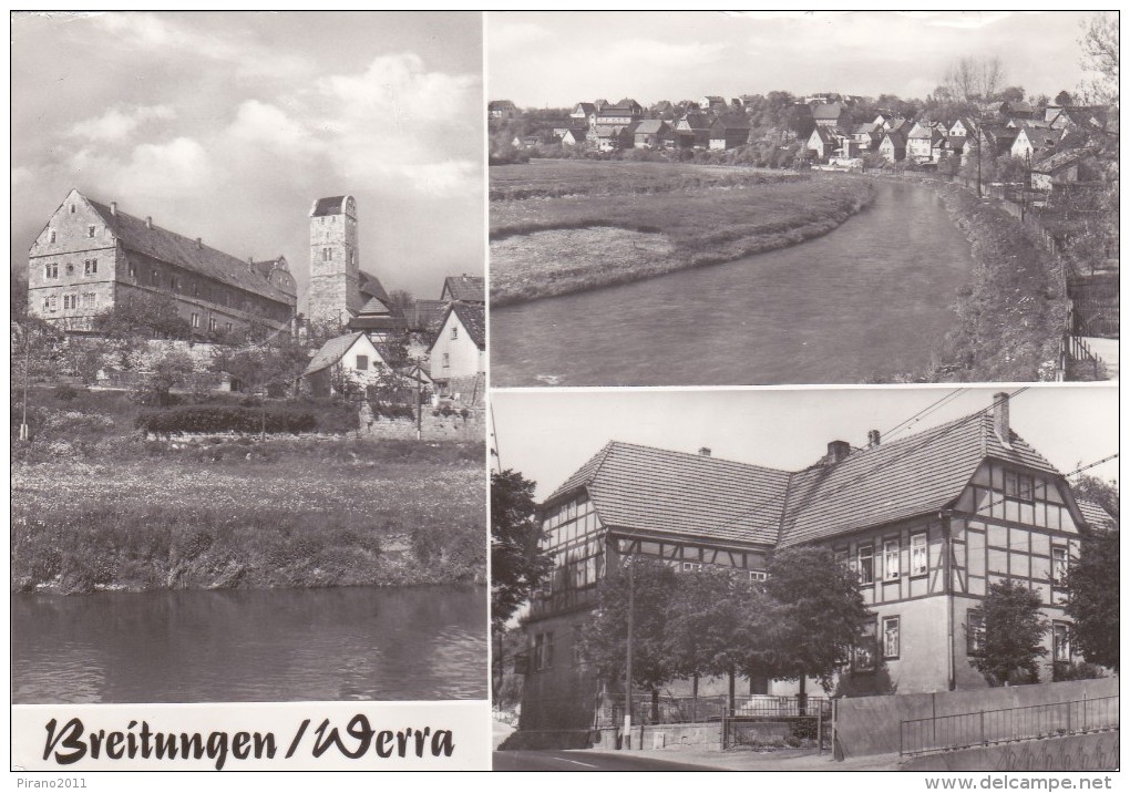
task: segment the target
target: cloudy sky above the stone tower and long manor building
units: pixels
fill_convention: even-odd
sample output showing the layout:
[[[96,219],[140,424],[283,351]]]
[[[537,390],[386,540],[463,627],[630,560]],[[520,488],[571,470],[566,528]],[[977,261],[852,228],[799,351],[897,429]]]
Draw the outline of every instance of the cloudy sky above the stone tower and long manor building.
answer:
[[[35,14],[11,37],[14,267],[73,186],[303,284],[311,202],[350,193],[389,289],[483,271],[477,14]]]

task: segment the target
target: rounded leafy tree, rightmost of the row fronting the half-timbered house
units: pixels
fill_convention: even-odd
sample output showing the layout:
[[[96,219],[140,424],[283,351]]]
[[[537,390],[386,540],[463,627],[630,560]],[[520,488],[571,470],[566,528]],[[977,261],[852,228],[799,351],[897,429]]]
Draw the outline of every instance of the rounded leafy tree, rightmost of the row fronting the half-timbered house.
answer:
[[[785,548],[768,565],[763,624],[768,647],[758,657],[776,680],[816,678],[832,689],[836,669],[875,616],[859,593],[859,578],[819,547]]]

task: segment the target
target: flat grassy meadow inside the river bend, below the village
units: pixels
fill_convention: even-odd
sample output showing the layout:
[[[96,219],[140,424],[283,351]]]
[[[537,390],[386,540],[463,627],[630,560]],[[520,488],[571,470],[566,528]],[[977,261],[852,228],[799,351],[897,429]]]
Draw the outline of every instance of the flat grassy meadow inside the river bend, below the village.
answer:
[[[506,305],[732,261],[826,234],[867,182],[664,163],[490,168],[490,299]]]

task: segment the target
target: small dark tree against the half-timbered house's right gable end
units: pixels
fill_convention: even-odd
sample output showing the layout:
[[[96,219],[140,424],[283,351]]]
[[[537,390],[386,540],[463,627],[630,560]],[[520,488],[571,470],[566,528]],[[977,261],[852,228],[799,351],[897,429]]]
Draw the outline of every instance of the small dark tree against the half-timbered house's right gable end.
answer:
[[[982,610],[984,650],[973,659],[973,666],[991,686],[1038,682],[1049,629],[1040,612],[1040,594],[1022,584],[990,584]]]

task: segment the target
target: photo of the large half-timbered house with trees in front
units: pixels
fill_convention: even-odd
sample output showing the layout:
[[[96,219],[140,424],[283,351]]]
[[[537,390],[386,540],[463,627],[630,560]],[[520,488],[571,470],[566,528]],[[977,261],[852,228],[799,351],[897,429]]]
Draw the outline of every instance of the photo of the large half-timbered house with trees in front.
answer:
[[[1118,767],[1116,389],[492,411],[495,769]]]

